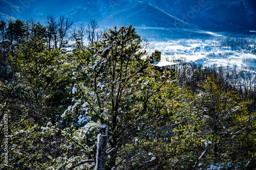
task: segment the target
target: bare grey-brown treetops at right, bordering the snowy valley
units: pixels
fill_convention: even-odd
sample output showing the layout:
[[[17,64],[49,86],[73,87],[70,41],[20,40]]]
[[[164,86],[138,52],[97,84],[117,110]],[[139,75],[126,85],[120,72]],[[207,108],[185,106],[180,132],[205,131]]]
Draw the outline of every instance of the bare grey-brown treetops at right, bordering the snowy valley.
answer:
[[[181,59],[177,67],[177,85],[180,87],[190,87],[196,91],[200,84],[209,75],[217,80],[218,85],[222,85],[223,91],[236,91],[241,101],[251,101],[250,109],[255,110],[256,77],[253,67],[242,65],[233,68],[223,68],[222,66],[203,66],[193,61],[187,62]]]

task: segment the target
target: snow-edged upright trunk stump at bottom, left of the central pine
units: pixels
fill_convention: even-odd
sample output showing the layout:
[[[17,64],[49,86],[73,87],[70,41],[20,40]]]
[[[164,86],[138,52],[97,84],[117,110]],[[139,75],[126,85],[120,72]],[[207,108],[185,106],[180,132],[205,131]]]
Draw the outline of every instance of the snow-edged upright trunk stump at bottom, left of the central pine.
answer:
[[[95,170],[105,170],[106,163],[106,142],[107,136],[98,134],[97,136],[97,156],[96,156],[96,165]]]

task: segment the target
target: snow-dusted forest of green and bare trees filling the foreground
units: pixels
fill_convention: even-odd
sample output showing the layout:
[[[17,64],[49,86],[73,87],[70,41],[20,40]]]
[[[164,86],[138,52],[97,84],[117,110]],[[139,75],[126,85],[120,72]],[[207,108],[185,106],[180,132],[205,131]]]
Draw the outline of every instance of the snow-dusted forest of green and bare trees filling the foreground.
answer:
[[[132,26],[61,15],[1,21],[0,50],[1,169],[255,168],[252,68],[159,72]]]

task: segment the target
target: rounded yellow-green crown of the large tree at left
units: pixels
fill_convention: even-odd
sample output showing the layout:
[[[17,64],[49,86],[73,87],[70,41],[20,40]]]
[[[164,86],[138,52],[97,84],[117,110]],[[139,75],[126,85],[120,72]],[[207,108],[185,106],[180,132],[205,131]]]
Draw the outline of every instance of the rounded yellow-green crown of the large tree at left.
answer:
[[[63,91],[69,82],[68,65],[63,57],[58,50],[47,50],[44,39],[34,37],[24,46],[20,45],[14,55],[10,54],[9,60],[16,77],[24,81],[34,99],[46,100],[54,106],[65,98]]]

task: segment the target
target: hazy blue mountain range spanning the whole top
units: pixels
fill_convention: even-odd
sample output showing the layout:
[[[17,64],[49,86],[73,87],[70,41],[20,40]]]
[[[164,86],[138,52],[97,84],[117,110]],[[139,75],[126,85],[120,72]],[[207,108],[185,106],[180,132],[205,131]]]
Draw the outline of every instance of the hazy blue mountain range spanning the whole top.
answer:
[[[92,18],[101,26],[129,26],[151,35],[202,34],[201,30],[240,32],[256,25],[254,0],[0,0],[0,20],[45,21],[48,14],[66,15],[75,24]]]

